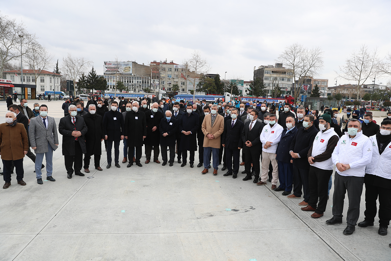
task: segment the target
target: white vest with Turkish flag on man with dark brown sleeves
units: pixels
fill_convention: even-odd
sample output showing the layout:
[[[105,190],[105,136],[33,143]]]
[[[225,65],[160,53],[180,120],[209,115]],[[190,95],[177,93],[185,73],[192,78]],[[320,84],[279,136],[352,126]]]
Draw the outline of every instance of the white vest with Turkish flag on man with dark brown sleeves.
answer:
[[[324,132],[319,131],[316,134],[314,142],[312,143],[311,156],[315,157],[315,156],[325,152],[326,148],[327,148],[328,140],[333,136],[338,137],[338,134],[334,131],[334,128],[330,128]],[[314,164],[312,164],[312,166],[318,167],[319,169],[332,170],[334,167],[334,164],[333,164],[332,158],[330,157],[328,160],[325,160],[325,161],[314,162]]]

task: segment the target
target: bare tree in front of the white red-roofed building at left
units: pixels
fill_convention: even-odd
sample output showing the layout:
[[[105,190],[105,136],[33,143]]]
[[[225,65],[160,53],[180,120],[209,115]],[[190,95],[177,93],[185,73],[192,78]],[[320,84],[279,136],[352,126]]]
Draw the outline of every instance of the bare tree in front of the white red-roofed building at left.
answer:
[[[32,43],[30,50],[23,56],[23,62],[29,65],[29,69],[34,72],[36,88],[39,75],[42,73],[42,70],[49,70],[53,65],[53,58],[53,54],[47,52],[45,47],[38,42]]]

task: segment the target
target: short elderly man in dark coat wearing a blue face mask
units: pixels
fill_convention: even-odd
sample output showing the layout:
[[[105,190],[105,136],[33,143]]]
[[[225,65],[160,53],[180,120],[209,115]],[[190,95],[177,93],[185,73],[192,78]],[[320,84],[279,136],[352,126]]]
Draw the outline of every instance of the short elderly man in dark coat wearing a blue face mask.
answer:
[[[170,167],[174,165],[175,159],[175,135],[178,128],[178,120],[172,117],[172,112],[167,110],[165,112],[165,118],[160,120],[159,133],[160,133],[160,148],[161,148],[161,160],[163,160],[162,166],[170,164]],[[170,159],[167,159],[167,147],[170,150]]]

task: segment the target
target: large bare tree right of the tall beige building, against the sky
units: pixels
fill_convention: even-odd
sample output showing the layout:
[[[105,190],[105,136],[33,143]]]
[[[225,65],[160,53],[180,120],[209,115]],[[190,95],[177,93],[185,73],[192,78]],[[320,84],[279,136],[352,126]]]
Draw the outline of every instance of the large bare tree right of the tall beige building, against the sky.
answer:
[[[314,77],[322,70],[323,51],[320,47],[308,49],[299,43],[294,43],[285,47],[276,61],[283,63],[291,70],[294,79],[292,94],[297,99],[300,95],[301,83],[306,77]],[[296,79],[298,80],[297,86]]]

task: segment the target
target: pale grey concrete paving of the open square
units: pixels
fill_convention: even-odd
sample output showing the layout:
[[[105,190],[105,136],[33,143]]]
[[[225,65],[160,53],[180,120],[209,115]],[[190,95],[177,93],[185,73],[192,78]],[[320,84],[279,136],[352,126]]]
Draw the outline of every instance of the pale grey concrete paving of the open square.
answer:
[[[63,102],[45,103],[58,125]],[[0,102],[2,115],[5,107]],[[56,182],[37,184],[26,157],[27,185],[16,184],[13,174],[12,185],[0,191],[0,260],[391,260],[390,236],[378,235],[378,226],[345,236],[346,223],[325,223],[332,200],[322,218],[312,219],[297,205],[300,199],[271,191],[269,182],[244,182],[240,173],[237,179],[221,170],[201,175],[202,167],[176,162],[106,169],[103,145],[103,171],[91,168],[69,180],[59,139]],[[344,216],[347,197],[345,204]]]

